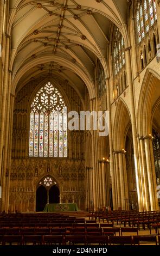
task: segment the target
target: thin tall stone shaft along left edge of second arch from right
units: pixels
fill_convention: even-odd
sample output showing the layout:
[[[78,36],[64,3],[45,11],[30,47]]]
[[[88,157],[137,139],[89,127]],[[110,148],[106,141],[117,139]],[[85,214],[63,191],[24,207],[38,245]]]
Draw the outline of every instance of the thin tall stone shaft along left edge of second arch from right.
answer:
[[[116,178],[114,169],[114,156],[113,156],[113,137],[112,137],[112,115],[111,115],[111,99],[110,99],[110,78],[106,79],[107,88],[107,108],[109,111],[109,142],[110,142],[110,168],[112,178],[112,198],[113,198],[113,210],[117,210],[117,197],[116,197]]]

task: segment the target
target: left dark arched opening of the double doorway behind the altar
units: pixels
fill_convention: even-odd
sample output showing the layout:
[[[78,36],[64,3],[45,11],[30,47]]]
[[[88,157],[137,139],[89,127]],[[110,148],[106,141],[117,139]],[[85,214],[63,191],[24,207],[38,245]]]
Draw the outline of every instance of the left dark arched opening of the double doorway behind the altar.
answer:
[[[40,186],[36,191],[36,211],[43,211],[47,204],[47,190],[46,187]]]

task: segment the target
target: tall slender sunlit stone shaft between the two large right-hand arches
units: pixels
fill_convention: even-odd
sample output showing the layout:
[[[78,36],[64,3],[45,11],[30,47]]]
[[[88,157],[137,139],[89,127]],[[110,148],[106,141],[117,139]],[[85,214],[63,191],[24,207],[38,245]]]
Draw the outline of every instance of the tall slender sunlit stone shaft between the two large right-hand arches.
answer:
[[[136,127],[136,110],[135,110],[135,99],[133,93],[133,78],[132,78],[132,69],[131,69],[131,47],[125,49],[126,57],[126,72],[127,72],[127,82],[129,85],[130,93],[130,113],[132,121],[132,135],[133,135],[133,148],[135,155],[135,171],[136,171],[136,183],[137,183],[137,194],[138,194],[138,206],[139,211],[143,211],[142,203],[142,187],[140,182],[140,167],[139,167],[139,154],[138,154],[138,143],[137,143],[137,127]]]

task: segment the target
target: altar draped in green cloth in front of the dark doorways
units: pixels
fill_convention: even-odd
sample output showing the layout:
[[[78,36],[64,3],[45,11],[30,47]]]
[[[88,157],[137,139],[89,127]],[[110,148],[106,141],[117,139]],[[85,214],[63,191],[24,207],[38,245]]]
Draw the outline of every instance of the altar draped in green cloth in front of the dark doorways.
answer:
[[[69,204],[46,204],[43,212],[79,211],[76,203]]]

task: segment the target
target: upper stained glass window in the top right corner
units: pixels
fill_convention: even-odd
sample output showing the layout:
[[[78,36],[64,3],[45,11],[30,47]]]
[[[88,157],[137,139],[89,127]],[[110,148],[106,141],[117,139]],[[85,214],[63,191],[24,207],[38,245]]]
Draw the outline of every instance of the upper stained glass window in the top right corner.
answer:
[[[156,0],[144,0],[142,4],[138,4],[136,16],[138,42],[140,42],[157,20]]]

